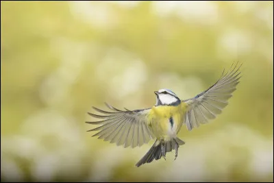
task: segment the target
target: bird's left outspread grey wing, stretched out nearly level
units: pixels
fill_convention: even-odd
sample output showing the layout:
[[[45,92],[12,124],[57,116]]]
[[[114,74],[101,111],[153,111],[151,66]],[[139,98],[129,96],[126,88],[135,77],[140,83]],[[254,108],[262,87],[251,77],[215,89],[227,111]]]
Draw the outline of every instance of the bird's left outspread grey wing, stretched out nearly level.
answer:
[[[86,122],[93,125],[101,125],[90,131],[99,131],[93,136],[99,136],[104,141],[110,141],[110,143],[116,143],[116,145],[124,145],[124,147],[136,147],[148,143],[151,139],[155,138],[152,132],[149,130],[147,124],[147,114],[151,108],[144,110],[118,110],[108,103],[105,103],[108,108],[114,112],[107,112],[98,108],[92,107],[98,112],[108,114],[106,116],[99,116],[97,114],[90,114],[90,116],[103,119],[103,121]]]

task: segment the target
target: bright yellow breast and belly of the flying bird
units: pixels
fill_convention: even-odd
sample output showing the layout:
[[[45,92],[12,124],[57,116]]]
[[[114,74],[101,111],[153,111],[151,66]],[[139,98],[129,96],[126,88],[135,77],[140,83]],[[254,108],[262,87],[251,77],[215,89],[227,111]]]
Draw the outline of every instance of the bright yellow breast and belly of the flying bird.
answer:
[[[153,106],[149,112],[149,128],[158,139],[175,137],[182,127],[186,105]],[[170,119],[173,119],[171,124]]]

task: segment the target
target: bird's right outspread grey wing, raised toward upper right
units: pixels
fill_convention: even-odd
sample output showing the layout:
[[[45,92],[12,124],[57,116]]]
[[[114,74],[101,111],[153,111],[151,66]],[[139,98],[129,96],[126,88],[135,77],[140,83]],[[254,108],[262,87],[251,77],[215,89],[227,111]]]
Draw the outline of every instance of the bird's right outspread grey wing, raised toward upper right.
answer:
[[[239,83],[241,77],[240,66],[237,63],[233,67],[232,64],[229,71],[225,73],[225,70],[223,70],[220,79],[208,90],[203,91],[196,97],[182,101],[188,106],[184,120],[188,130],[192,130],[193,127],[199,127],[200,123],[207,123],[211,119],[215,119],[217,114],[221,114]]]

